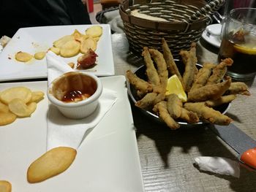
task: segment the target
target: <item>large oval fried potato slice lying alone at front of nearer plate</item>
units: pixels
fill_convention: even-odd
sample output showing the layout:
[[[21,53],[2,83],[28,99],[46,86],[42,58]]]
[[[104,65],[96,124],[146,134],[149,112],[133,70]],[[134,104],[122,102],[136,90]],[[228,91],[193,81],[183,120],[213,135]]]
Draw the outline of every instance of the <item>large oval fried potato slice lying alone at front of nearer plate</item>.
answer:
[[[71,147],[56,147],[34,161],[27,171],[29,183],[39,183],[64,172],[75,160],[77,151]]]

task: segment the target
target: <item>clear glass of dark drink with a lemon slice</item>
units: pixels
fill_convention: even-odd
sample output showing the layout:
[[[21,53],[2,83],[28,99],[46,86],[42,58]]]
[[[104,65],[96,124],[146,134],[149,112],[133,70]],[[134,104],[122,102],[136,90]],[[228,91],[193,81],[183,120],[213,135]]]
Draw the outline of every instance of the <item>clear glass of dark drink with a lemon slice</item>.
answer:
[[[232,9],[222,30],[218,60],[232,58],[227,74],[237,80],[251,80],[256,75],[256,9]]]

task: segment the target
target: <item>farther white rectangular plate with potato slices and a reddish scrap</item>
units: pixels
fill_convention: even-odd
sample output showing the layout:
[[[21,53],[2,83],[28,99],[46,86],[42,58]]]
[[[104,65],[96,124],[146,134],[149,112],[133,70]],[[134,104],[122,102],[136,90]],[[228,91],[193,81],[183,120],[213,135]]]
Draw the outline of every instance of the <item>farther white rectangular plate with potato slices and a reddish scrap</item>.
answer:
[[[23,51],[34,55],[34,53],[39,51],[47,51],[50,47],[53,47],[53,42],[57,39],[72,34],[75,29],[78,29],[80,33],[84,34],[86,28],[91,26],[92,25],[20,28],[0,53],[0,81],[46,78],[47,66],[45,58],[42,60],[33,58],[31,61],[23,63],[15,60],[15,53]],[[102,37],[100,37],[99,42],[97,42],[97,50],[95,51],[98,55],[97,65],[86,71],[96,74],[97,76],[110,76],[115,74],[110,26],[96,26],[102,26],[103,29]],[[76,64],[80,55],[82,54],[80,53],[72,58],[64,58],[64,61]]]

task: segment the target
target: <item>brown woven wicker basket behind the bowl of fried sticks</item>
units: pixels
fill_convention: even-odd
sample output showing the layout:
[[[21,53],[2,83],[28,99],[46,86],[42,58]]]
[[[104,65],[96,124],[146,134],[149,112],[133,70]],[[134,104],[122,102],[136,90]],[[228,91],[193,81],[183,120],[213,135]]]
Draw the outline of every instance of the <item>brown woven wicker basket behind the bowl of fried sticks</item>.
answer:
[[[211,15],[222,6],[224,0],[206,3],[203,0],[163,0],[121,2],[119,12],[124,23],[124,31],[129,48],[140,54],[143,47],[162,50],[162,37],[167,41],[174,57],[179,51],[188,50],[191,42],[197,42],[206,26],[211,23]],[[164,18],[155,21],[131,15],[132,10]]]

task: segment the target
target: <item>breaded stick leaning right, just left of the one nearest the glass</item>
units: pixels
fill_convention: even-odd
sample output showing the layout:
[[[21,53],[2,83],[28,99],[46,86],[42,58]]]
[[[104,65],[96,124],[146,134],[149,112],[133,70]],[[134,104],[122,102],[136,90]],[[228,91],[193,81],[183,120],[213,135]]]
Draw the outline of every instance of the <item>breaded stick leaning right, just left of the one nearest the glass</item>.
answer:
[[[204,85],[206,85],[208,78],[211,76],[211,71],[215,66],[216,64],[204,64],[203,67],[199,69],[197,75],[195,76],[195,80],[192,84],[192,88],[190,89],[190,91],[192,91],[193,89],[201,88]]]

